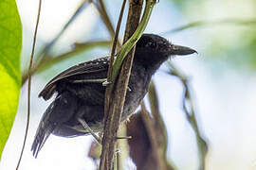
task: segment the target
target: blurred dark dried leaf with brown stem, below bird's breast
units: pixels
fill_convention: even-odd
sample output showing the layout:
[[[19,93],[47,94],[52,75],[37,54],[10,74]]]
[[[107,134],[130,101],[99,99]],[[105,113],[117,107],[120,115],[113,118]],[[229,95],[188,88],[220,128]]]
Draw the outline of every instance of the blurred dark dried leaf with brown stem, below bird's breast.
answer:
[[[127,124],[130,156],[140,170],[173,170],[174,166],[167,161],[167,132],[162,120],[155,85],[152,82],[149,88],[149,99],[152,116],[141,103],[141,111],[131,117]],[[139,129],[139,130],[137,130]]]

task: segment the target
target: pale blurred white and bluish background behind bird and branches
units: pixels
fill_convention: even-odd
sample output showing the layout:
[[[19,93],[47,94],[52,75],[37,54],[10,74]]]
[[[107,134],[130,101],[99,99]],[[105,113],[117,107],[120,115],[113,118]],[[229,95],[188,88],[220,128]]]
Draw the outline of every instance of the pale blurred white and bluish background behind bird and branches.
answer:
[[[81,2],[43,1],[37,53],[57,36]],[[104,2],[116,26],[121,1]],[[26,73],[38,2],[23,0],[16,3],[23,24],[22,70]],[[253,0],[160,0],[145,31],[198,51],[198,55],[177,57],[172,61],[189,77],[196,118],[210,144],[206,162],[209,170],[256,170],[255,7],[256,2]],[[121,33],[123,30],[124,24]],[[51,48],[49,55],[56,57],[68,52],[75,42],[109,39],[110,35],[97,9],[89,6],[82,8],[75,21]],[[50,103],[37,97],[46,82],[71,65],[109,53],[107,46],[89,48],[32,77],[32,114],[21,170],[95,169],[94,162],[87,157],[92,141],[90,136],[72,139],[50,136],[38,159],[32,157],[30,145],[40,118]],[[168,130],[168,158],[177,169],[197,169],[194,132],[181,108],[182,85],[177,78],[167,75],[166,70],[166,66],[162,66],[154,79],[160,111]],[[19,109],[2,155],[0,169],[16,167],[24,139],[26,115],[27,83],[21,89]],[[127,163],[126,169],[136,167]]]

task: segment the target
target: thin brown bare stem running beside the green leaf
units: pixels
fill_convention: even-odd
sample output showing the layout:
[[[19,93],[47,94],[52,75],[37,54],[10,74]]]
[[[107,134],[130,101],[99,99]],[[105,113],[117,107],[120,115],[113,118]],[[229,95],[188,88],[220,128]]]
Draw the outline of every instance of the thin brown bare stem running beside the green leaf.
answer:
[[[33,65],[33,59],[34,59],[34,53],[35,53],[35,44],[36,44],[36,36],[37,36],[37,30],[38,30],[38,25],[39,25],[39,19],[40,19],[40,13],[41,13],[41,7],[42,7],[42,0],[39,0],[39,5],[38,5],[38,14],[37,14],[37,20],[36,20],[36,26],[35,26],[35,32],[34,32],[34,39],[33,39],[33,45],[32,45],[32,52],[30,56],[30,61],[29,61],[29,67],[28,67],[28,85],[27,85],[27,125],[26,125],[26,131],[25,131],[25,137],[24,137],[24,142],[22,146],[22,151],[21,155],[19,158],[19,161],[17,163],[16,170],[19,169],[24,148],[26,145],[27,141],[27,132],[28,132],[28,127],[29,127],[29,119],[30,119],[30,91],[31,91],[31,72],[32,72],[32,65]]]

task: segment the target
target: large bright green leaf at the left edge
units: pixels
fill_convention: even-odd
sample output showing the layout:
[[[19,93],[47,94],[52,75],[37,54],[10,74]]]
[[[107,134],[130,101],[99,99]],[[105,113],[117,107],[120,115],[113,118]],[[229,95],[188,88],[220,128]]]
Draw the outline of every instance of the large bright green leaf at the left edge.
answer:
[[[0,157],[17,111],[22,26],[14,0],[0,0]]]

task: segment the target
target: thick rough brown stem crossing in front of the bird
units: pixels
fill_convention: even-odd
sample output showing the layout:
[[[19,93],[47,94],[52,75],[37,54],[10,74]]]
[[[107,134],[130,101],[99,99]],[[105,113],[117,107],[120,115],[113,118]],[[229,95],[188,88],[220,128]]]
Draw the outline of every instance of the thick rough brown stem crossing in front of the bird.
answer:
[[[139,23],[139,17],[142,9],[143,0],[130,2],[129,6],[129,14],[127,19],[126,27],[134,27],[134,29],[126,29],[125,30],[125,38],[123,42],[126,42],[128,38],[132,36],[132,34],[137,29]],[[134,8],[137,7],[137,10],[134,11]],[[133,8],[133,10],[131,9]],[[139,10],[138,10],[139,9]],[[132,13],[132,11],[134,11]],[[137,17],[135,17],[137,16]],[[129,76],[132,68],[133,58],[134,58],[135,48],[128,54],[126,59],[123,61],[123,65],[120,71],[118,84],[114,91],[115,95],[111,95],[111,87],[108,87],[110,90],[110,96],[113,96],[112,105],[105,111],[105,125],[104,125],[104,136],[102,141],[102,152],[101,152],[101,163],[100,170],[103,169],[112,169],[113,167],[113,156],[116,144],[117,130],[119,128],[119,119],[120,114],[123,109],[124,99],[126,95],[126,89],[129,82]],[[114,83],[114,82],[112,82]]]

